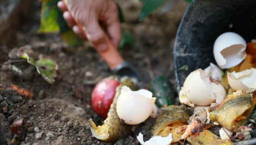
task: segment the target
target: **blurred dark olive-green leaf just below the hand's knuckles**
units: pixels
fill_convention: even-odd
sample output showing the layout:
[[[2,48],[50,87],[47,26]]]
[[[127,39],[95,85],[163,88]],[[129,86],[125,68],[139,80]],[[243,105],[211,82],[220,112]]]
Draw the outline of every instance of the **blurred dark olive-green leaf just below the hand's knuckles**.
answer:
[[[71,48],[83,45],[83,40],[80,39],[72,30],[61,33],[62,40],[64,40]]]

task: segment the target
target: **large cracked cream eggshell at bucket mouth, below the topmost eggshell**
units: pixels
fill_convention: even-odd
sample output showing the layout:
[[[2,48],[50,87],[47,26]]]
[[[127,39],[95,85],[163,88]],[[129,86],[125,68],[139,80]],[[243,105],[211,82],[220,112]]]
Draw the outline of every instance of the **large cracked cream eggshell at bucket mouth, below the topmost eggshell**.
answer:
[[[218,102],[222,101],[225,95],[226,91],[223,86],[211,82],[202,69],[197,69],[186,78],[179,99],[181,103],[191,107],[194,107],[194,104],[206,106],[215,103],[216,99]]]

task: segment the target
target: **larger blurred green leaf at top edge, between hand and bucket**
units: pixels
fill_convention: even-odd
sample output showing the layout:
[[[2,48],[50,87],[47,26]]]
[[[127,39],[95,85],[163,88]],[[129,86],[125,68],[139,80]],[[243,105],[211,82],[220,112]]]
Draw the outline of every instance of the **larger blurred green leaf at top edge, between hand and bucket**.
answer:
[[[140,0],[144,2],[142,11],[140,14],[140,21],[151,14],[154,10],[160,7],[164,0]]]

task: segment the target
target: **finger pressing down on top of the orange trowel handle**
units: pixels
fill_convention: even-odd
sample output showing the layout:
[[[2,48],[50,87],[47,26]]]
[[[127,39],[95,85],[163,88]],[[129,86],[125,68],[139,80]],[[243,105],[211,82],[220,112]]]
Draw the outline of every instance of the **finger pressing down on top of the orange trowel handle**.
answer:
[[[84,29],[86,37],[94,45],[96,50],[105,51],[108,48],[108,36],[103,31],[98,21],[89,22]]]

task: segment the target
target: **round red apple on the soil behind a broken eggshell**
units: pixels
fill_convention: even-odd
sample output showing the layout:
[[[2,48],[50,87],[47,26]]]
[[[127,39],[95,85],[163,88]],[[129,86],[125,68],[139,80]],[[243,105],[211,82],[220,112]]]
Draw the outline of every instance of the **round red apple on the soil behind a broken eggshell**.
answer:
[[[101,117],[107,118],[110,105],[116,94],[116,88],[120,82],[113,78],[105,78],[100,81],[92,92],[91,107]]]

